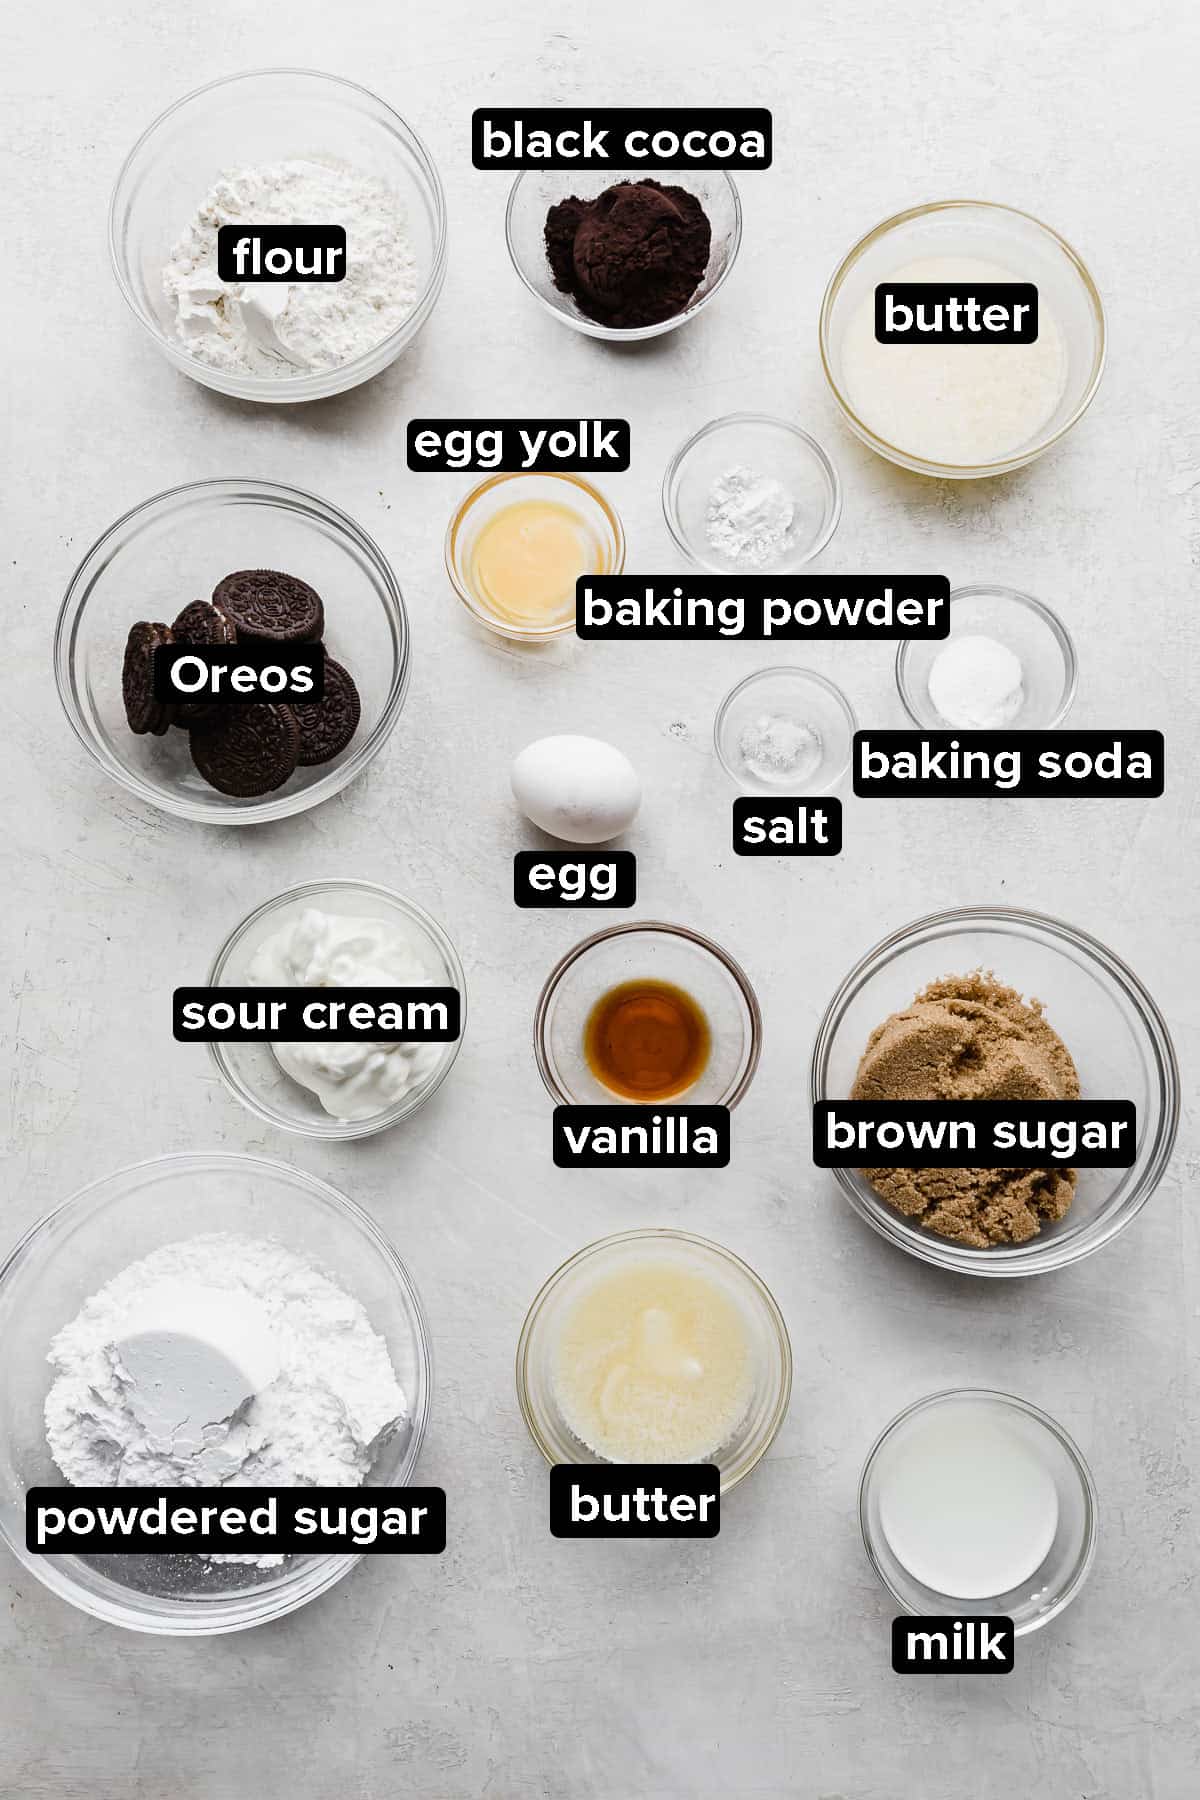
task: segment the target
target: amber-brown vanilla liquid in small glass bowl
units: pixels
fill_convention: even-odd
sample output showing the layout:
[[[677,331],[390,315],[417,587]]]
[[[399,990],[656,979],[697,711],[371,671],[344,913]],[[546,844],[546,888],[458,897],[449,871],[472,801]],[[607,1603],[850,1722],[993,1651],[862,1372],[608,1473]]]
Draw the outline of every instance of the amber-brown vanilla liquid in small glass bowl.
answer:
[[[603,994],[583,1028],[583,1055],[597,1082],[626,1100],[669,1100],[703,1073],[709,1021],[669,981],[622,981]]]

